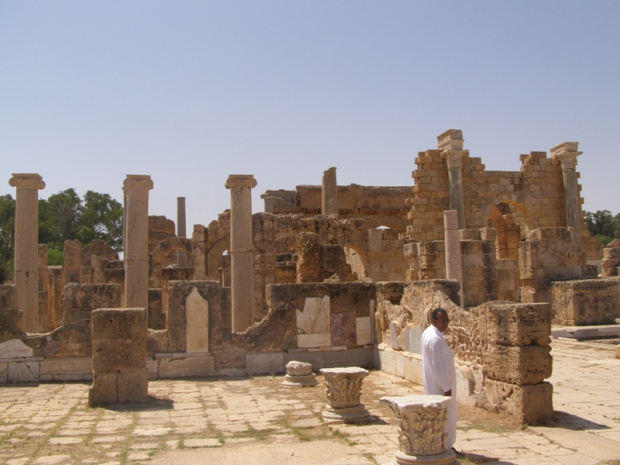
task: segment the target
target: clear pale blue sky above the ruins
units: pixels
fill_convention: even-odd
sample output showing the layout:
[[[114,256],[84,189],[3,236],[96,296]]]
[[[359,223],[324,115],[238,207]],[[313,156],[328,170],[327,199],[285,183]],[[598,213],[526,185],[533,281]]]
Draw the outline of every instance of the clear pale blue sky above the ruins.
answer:
[[[187,230],[260,194],[413,185],[419,151],[462,129],[489,170],[578,141],[588,211],[620,212],[619,1],[0,2],[0,194],[35,172]],[[2,181],[2,179],[4,179]]]

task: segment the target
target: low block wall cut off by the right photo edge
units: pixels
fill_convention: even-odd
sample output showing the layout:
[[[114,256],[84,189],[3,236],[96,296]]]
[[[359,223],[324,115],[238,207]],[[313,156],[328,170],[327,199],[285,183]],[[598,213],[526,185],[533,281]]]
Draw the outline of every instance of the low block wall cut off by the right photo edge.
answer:
[[[551,284],[553,324],[615,324],[620,318],[620,281],[582,279]]]

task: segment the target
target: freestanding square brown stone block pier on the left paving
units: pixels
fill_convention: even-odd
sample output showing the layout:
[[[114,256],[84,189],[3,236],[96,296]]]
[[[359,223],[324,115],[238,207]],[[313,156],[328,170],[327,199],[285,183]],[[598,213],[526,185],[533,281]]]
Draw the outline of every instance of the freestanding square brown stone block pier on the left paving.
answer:
[[[93,384],[90,406],[146,402],[146,311],[143,308],[93,312]]]

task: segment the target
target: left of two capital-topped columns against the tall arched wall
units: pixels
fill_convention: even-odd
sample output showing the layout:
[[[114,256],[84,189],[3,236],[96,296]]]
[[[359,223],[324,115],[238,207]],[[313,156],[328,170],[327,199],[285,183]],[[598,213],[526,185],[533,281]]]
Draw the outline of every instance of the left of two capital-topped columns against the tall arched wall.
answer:
[[[465,229],[465,201],[463,198],[463,131],[449,129],[437,136],[437,147],[448,164],[448,182],[450,184],[450,210],[456,210],[458,229]]]

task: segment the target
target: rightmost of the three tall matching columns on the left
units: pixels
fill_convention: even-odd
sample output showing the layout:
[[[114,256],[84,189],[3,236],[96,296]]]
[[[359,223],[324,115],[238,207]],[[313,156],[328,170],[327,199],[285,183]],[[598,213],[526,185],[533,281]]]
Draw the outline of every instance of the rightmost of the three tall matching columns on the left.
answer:
[[[232,331],[240,333],[252,324],[254,251],[252,243],[252,175],[231,174],[230,189],[230,287]]]

